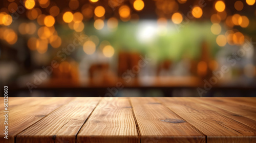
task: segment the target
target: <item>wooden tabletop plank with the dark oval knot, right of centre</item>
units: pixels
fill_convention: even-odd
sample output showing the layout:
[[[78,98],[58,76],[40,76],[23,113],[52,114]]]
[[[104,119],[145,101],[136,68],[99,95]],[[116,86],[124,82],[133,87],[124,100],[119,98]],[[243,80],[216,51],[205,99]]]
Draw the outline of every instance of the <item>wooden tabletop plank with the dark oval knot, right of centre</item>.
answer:
[[[205,142],[205,136],[155,98],[131,98],[141,142]]]

